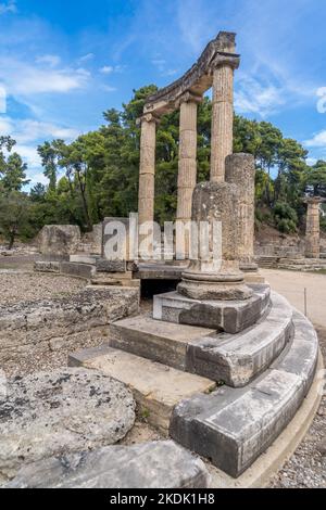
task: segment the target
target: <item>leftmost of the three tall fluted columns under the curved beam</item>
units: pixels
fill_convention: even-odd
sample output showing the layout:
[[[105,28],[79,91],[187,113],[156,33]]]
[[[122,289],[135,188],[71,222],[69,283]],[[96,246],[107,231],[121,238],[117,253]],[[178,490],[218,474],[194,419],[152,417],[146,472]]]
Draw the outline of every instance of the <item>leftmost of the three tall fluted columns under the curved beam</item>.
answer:
[[[139,165],[139,194],[138,214],[139,225],[154,219],[154,191],[155,191],[155,142],[158,119],[151,115],[143,115],[140,138]]]

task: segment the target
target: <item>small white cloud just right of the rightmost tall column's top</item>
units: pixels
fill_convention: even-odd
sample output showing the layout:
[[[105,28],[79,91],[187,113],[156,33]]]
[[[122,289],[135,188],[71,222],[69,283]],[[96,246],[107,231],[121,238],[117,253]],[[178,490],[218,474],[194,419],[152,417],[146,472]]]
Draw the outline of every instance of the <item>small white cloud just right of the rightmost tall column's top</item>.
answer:
[[[272,84],[262,85],[250,76],[239,78],[235,92],[235,109],[238,113],[258,114],[266,117],[279,111],[286,103],[285,91]]]

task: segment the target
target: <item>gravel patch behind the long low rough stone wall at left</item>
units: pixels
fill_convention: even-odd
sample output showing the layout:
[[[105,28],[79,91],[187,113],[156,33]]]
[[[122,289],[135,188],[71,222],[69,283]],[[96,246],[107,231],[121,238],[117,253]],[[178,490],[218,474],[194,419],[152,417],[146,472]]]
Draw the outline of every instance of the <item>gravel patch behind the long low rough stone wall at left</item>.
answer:
[[[0,270],[0,306],[70,295],[84,286],[84,281],[74,278]]]

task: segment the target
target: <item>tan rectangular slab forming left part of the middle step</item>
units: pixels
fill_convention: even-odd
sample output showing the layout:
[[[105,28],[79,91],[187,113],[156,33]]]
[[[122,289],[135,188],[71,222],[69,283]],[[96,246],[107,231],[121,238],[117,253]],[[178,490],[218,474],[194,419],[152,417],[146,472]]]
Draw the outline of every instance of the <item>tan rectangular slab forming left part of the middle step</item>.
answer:
[[[112,347],[186,370],[187,348],[191,341],[215,330],[162,322],[148,316],[120,320],[110,327]]]

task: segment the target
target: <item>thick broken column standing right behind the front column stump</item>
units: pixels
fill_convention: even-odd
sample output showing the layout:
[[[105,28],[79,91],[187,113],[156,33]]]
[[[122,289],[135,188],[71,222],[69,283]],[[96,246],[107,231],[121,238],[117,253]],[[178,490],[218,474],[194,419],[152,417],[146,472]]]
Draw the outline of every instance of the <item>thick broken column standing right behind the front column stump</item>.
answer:
[[[258,271],[254,263],[254,157],[251,154],[231,154],[225,161],[225,180],[236,184],[240,192],[238,215],[238,253],[242,271]]]

